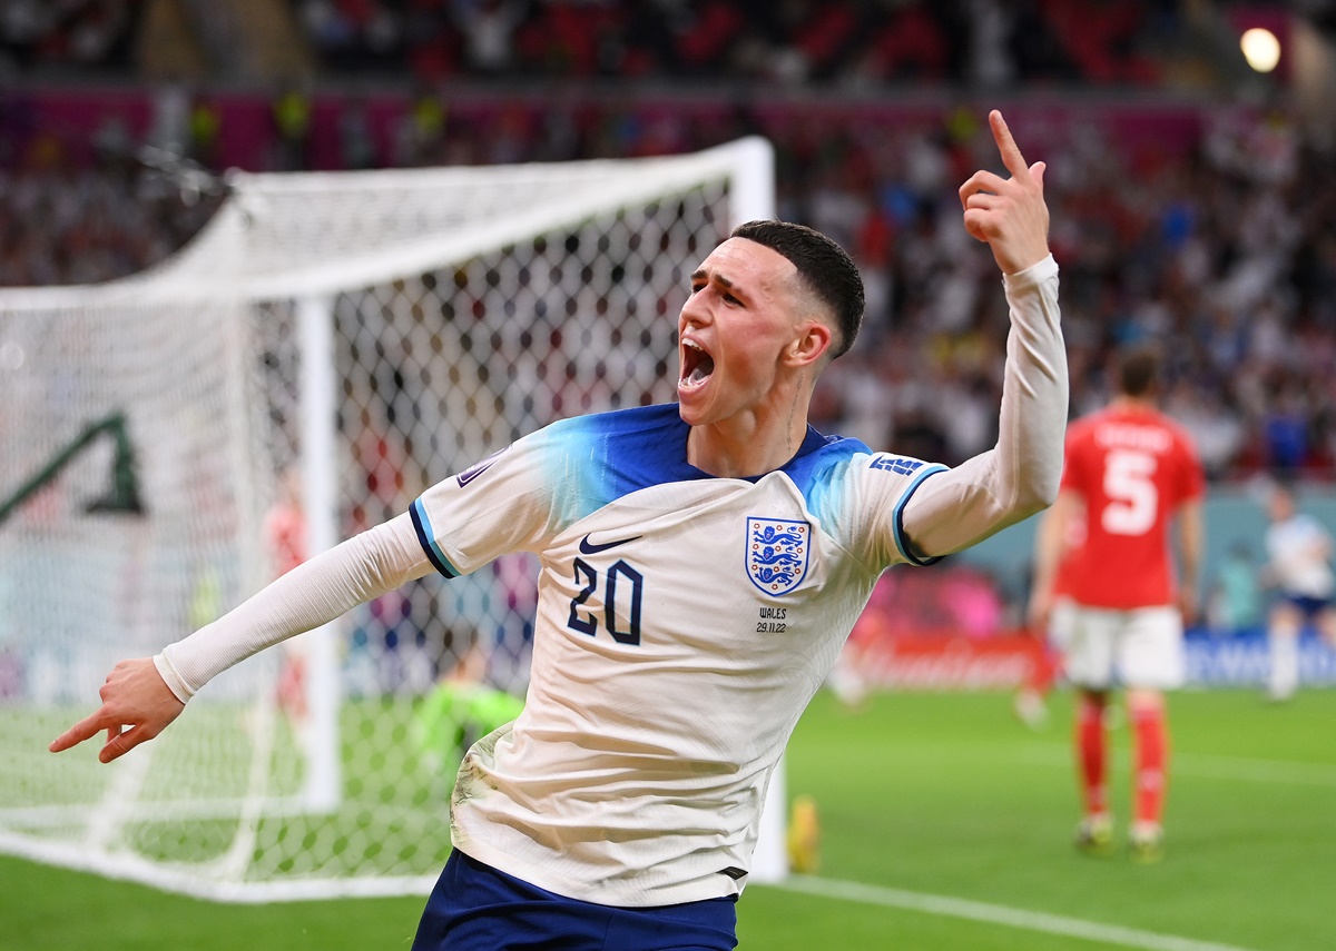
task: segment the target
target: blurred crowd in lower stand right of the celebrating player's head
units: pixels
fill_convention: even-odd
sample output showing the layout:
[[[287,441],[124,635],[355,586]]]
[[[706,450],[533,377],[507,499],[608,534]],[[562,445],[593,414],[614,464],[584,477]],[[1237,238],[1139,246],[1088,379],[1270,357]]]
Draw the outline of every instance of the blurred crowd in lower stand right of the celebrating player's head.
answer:
[[[806,187],[787,212],[840,238],[867,276],[868,337],[822,414],[870,445],[955,461],[995,438],[1007,325],[951,188],[989,164],[985,139],[949,122],[894,158],[854,147],[791,179]],[[1049,166],[1073,415],[1110,398],[1118,346],[1153,341],[1165,407],[1213,478],[1332,477],[1332,154],[1272,112],[1221,114],[1180,156],[1129,155],[1085,126],[1035,158]]]

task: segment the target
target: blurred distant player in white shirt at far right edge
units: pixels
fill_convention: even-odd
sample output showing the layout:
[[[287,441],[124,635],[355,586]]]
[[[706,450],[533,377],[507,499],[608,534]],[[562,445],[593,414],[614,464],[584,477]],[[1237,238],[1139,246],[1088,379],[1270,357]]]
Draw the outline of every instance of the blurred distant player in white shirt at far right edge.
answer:
[[[1263,572],[1275,601],[1267,617],[1271,672],[1267,695],[1289,700],[1299,689],[1299,634],[1316,626],[1336,646],[1336,574],[1332,537],[1321,522],[1299,510],[1288,486],[1272,488],[1268,502],[1267,566]]]

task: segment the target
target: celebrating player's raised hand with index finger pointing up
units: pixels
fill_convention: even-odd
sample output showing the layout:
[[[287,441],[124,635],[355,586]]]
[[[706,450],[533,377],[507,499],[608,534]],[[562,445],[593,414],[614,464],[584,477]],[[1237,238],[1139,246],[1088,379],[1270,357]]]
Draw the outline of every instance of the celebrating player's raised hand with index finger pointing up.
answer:
[[[1015,274],[1049,256],[1049,206],[1043,200],[1046,166],[1025,163],[1011,130],[997,110],[989,112],[989,126],[1011,178],[977,171],[961,186],[965,230],[993,248],[993,258],[1003,274]]]

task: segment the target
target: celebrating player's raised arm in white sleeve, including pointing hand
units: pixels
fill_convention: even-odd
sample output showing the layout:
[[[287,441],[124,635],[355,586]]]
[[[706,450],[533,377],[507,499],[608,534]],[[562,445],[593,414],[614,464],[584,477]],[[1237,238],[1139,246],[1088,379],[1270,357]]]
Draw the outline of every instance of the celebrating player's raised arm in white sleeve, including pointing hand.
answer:
[[[1001,112],[989,123],[1011,178],[975,172],[961,186],[961,206],[966,231],[993,250],[1010,306],[998,442],[925,481],[904,506],[904,534],[925,557],[958,552],[1051,505],[1062,473],[1067,359],[1045,166],[1026,164]]]

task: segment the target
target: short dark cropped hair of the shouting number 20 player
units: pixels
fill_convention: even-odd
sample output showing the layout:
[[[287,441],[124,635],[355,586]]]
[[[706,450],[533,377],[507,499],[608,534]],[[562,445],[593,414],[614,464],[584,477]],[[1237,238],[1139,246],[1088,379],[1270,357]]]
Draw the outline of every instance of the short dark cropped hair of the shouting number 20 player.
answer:
[[[788,258],[803,286],[831,309],[839,339],[831,358],[848,353],[863,325],[863,276],[854,259],[820,231],[792,222],[747,222],[731,238],[745,238]]]

